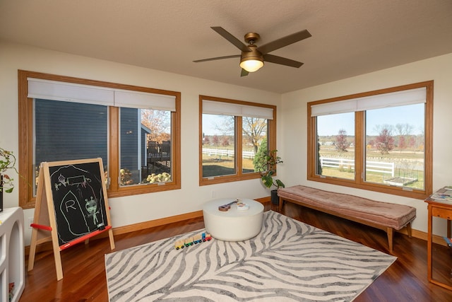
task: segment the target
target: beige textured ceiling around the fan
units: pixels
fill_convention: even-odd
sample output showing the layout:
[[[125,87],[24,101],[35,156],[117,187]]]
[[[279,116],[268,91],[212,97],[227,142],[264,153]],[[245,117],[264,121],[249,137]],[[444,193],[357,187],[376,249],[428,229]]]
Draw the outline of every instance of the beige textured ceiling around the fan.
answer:
[[[238,58],[193,62],[240,53],[211,26],[312,37],[271,52],[299,69],[240,77]],[[452,53],[452,0],[0,0],[0,40],[285,93]]]

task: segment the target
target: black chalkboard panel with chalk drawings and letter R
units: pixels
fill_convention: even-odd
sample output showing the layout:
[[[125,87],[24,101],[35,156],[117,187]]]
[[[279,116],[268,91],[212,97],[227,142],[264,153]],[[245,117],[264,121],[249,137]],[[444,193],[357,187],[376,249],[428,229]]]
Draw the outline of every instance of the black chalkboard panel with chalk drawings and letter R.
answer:
[[[100,159],[88,163],[49,163],[60,246],[108,226],[103,173]]]

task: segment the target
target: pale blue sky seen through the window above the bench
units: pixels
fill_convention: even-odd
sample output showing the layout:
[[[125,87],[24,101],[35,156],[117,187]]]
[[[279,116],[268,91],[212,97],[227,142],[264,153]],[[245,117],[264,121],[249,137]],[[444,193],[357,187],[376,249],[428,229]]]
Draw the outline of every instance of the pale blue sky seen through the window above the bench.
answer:
[[[317,117],[317,129],[320,137],[338,135],[339,129],[345,129],[347,135],[355,135],[355,112]],[[385,124],[396,127],[396,124],[412,125],[411,134],[421,134],[424,129],[424,104],[398,106],[368,110],[366,129],[369,135],[378,135],[376,126]]]

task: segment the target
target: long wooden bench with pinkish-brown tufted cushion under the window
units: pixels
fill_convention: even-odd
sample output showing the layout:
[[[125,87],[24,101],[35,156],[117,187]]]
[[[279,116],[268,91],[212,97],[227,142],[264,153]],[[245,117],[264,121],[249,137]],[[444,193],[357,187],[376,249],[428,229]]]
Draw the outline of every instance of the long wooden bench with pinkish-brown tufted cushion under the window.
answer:
[[[323,211],[351,221],[379,228],[388,234],[389,252],[393,252],[393,233],[407,228],[411,237],[411,222],[416,218],[416,209],[404,204],[391,204],[357,197],[349,194],[328,192],[312,187],[296,185],[278,190],[279,209],[284,202]]]

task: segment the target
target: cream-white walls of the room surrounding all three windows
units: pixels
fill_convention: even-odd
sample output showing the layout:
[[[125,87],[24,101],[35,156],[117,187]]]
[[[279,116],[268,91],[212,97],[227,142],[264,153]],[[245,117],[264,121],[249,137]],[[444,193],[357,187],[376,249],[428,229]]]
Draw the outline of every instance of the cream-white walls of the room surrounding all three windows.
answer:
[[[215,198],[268,196],[268,191],[259,180],[199,187],[198,95],[278,105],[277,148],[278,154],[285,161],[278,166],[278,178],[281,178],[285,185],[303,184],[381,201],[409,204],[417,208],[417,219],[413,223],[413,228],[427,232],[427,204],[422,200],[307,181],[307,102],[434,80],[433,180],[434,190],[437,190],[444,185],[452,185],[452,172],[449,168],[449,158],[452,154],[452,143],[449,140],[450,129],[452,129],[450,118],[452,69],[450,66],[452,66],[452,54],[447,54],[279,95],[138,66],[0,42],[0,146],[18,154],[18,122],[20,122],[17,103],[18,69],[180,91],[182,93],[182,189],[109,199],[112,207],[112,225],[126,226],[198,211],[204,202],[211,199],[213,190],[215,190]],[[18,206],[17,192],[18,190],[15,190],[11,194],[4,194],[4,207]],[[32,209],[25,210],[25,224],[28,224],[28,217],[32,217],[33,213]],[[442,236],[445,235],[445,221],[441,220],[434,221],[434,233]],[[31,231],[30,228],[25,228],[25,231],[25,240],[28,244]]]

